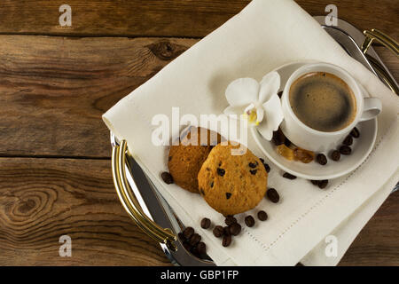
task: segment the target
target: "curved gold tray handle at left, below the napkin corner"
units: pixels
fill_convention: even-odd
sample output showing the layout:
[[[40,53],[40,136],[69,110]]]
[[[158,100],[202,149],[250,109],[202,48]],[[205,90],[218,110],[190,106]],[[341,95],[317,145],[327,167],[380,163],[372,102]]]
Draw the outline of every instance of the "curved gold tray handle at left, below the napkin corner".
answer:
[[[125,166],[126,155],[128,154],[128,144],[126,140],[121,140],[120,146],[113,146],[112,168],[113,168],[113,184],[116,193],[123,208],[128,212],[129,217],[154,241],[164,243],[169,249],[176,251],[176,235],[170,229],[164,229],[157,225],[149,217],[140,206],[135,194],[133,193],[128,178],[126,177]]]

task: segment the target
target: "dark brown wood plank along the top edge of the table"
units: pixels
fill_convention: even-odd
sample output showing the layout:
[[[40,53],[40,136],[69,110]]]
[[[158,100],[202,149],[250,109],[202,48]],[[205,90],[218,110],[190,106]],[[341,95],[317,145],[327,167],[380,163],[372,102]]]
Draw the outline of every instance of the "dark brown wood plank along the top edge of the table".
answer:
[[[202,37],[241,11],[247,0],[3,0],[0,33],[69,36]],[[325,15],[335,4],[338,16],[357,28],[379,28],[398,37],[399,2],[381,0],[297,0],[311,15]],[[72,26],[60,27],[59,6],[72,8]]]

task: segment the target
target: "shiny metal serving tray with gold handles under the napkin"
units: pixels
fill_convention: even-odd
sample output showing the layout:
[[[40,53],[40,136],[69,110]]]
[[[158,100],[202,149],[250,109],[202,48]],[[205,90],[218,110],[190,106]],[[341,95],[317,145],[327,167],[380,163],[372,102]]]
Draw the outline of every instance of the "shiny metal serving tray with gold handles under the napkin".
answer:
[[[314,18],[350,56],[378,75],[387,87],[399,95],[395,78],[371,47],[372,41],[375,40],[398,56],[398,44],[393,39],[374,29],[362,33],[344,20],[338,20],[337,26],[330,27],[325,25],[325,16]],[[113,182],[121,204],[129,217],[154,241],[160,242],[160,248],[172,264],[215,266],[210,258],[200,259],[193,256],[177,240],[176,235],[184,230],[184,224],[168,206],[167,201],[163,199],[152,181],[145,176],[137,162],[128,154],[126,141],[119,141],[111,133],[111,144],[113,146]],[[394,191],[398,187],[396,185]]]

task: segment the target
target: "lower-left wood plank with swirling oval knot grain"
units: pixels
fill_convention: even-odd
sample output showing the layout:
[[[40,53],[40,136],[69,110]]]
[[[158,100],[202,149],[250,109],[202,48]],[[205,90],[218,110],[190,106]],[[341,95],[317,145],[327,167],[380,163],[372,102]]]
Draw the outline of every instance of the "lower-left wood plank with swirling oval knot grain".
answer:
[[[59,237],[72,256],[59,256]],[[0,265],[169,265],[122,209],[110,161],[0,158]]]

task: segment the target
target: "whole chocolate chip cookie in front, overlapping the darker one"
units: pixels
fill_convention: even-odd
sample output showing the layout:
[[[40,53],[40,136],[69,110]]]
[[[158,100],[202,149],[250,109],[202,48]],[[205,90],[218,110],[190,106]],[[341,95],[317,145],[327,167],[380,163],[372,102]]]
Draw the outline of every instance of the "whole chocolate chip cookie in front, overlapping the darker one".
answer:
[[[231,151],[236,151],[231,154]],[[240,154],[237,154],[240,151]],[[264,197],[268,174],[245,146],[215,146],[198,174],[200,194],[224,216],[253,209]]]

